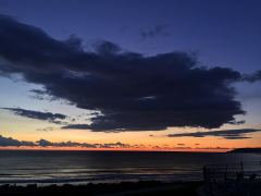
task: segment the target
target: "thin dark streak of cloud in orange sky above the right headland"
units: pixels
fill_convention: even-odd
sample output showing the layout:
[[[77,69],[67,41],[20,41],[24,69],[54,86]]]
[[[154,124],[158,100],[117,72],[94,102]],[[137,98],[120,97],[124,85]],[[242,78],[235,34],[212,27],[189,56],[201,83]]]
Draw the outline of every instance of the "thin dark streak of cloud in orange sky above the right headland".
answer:
[[[206,136],[217,136],[226,139],[246,139],[251,138],[245,136],[248,133],[260,132],[261,130],[254,128],[241,128],[241,130],[221,130],[221,131],[209,131],[209,132],[194,132],[194,133],[181,133],[181,134],[169,134],[169,137],[206,137]]]

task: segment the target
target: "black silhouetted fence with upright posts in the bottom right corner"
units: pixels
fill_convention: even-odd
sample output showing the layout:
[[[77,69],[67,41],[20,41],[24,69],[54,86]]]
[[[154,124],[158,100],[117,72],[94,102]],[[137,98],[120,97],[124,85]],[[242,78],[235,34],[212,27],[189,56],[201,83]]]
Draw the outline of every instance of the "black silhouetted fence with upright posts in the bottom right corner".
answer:
[[[204,166],[203,177],[208,195],[261,195],[261,161]]]

